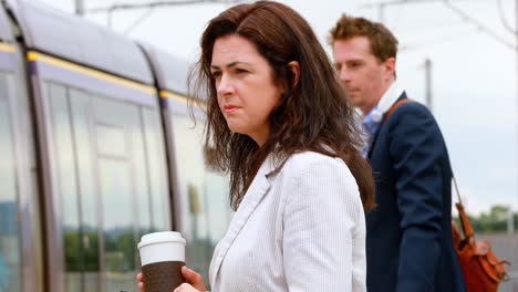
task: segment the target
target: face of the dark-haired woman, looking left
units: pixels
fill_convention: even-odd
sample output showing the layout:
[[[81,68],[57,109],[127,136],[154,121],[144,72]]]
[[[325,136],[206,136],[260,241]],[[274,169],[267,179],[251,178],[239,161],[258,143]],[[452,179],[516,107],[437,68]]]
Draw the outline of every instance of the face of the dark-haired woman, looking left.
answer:
[[[210,71],[230,131],[262,145],[270,134],[268,117],[281,95],[267,60],[250,41],[232,34],[216,40]]]

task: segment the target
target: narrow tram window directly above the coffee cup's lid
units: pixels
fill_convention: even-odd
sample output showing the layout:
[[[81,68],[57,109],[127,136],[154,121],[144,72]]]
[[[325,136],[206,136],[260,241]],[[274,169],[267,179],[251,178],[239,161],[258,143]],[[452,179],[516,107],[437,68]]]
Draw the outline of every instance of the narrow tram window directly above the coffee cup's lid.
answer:
[[[165,165],[164,136],[160,128],[160,117],[157,109],[144,108],[144,125],[146,136],[146,149],[151,176],[151,201],[154,231],[169,230],[170,219],[167,208],[170,207],[168,200],[168,186]]]

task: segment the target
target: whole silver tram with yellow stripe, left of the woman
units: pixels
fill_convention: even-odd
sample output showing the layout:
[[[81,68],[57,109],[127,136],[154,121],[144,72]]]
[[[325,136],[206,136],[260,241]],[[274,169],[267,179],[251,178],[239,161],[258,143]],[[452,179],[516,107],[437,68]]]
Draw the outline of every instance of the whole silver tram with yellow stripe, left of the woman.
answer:
[[[0,291],[137,291],[136,244],[160,230],[184,234],[206,277],[231,212],[189,117],[189,64],[33,0],[1,3]]]

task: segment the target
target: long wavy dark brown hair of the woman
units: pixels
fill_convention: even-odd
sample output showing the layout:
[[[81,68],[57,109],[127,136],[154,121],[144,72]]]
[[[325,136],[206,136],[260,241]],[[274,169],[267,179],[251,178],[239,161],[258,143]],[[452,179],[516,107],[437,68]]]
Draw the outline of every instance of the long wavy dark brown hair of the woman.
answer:
[[[219,109],[210,73],[214,43],[227,35],[252,42],[283,88],[280,104],[270,114],[270,136],[259,147],[247,135],[232,133]],[[271,1],[238,4],[209,21],[200,41],[201,54],[191,75],[194,93],[206,96],[206,149],[210,163],[230,174],[230,204],[237,209],[251,180],[269,154],[279,158],[277,170],[292,154],[312,150],[340,157],[360,188],[363,207],[374,205],[374,182],[362,145],[356,113],[349,105],[322,45],[308,22],[291,8]],[[300,76],[288,63],[297,61]],[[189,86],[193,87],[193,86]]]

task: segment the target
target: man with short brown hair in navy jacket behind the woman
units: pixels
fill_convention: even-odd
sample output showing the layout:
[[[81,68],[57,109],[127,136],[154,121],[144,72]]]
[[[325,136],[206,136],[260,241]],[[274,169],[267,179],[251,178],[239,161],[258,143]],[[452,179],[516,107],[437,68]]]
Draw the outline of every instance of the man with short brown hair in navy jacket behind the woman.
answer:
[[[366,215],[367,291],[464,291],[452,240],[452,169],[431,112],[396,81],[397,40],[342,15],[331,30],[336,74],[363,114],[362,149],[377,207]]]

